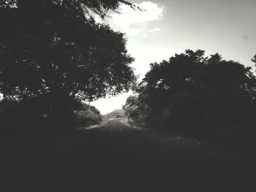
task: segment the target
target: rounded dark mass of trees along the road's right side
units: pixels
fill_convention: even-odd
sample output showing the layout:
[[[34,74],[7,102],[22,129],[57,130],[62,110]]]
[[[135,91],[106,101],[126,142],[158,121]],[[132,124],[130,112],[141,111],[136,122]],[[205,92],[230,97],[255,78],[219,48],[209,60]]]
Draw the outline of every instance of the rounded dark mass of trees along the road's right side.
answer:
[[[236,150],[256,148],[256,77],[250,67],[186,50],[151,64],[134,91],[124,110],[135,125]]]

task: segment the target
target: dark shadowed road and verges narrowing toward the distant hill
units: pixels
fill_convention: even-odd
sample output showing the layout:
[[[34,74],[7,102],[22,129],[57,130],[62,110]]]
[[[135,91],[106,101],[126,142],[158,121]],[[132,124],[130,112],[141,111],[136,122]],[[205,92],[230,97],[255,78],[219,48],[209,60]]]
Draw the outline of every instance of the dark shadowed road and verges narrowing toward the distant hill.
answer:
[[[1,191],[254,191],[254,161],[159,138],[116,119],[72,136],[7,145]]]

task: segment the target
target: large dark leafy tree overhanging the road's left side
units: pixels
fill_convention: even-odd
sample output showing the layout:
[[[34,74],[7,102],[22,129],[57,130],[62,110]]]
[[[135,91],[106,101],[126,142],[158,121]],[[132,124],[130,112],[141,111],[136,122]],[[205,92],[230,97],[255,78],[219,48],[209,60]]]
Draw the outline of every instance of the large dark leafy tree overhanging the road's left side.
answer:
[[[124,34],[95,23],[122,0],[0,1],[0,93],[67,119],[82,100],[128,91],[135,80]]]

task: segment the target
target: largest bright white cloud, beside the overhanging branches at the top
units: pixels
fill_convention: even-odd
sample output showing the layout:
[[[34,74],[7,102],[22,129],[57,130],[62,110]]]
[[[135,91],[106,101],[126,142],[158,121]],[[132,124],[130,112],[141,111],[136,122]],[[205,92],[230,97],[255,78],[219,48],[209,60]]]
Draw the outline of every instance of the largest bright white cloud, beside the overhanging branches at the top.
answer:
[[[110,14],[108,22],[115,30],[128,35],[147,34],[148,32],[160,31],[160,28],[148,29],[148,23],[163,18],[163,7],[151,1],[143,1],[136,4],[145,11],[134,10],[131,7],[121,4],[118,13]]]

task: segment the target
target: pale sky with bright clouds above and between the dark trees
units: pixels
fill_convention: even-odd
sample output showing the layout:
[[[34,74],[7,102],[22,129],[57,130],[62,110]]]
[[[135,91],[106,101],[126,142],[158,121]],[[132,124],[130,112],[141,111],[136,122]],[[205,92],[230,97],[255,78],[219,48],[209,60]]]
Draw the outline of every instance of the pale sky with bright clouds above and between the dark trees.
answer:
[[[131,66],[140,80],[150,69],[149,64],[187,49],[205,50],[206,55],[219,53],[226,60],[254,66],[251,59],[256,54],[256,0],[130,2],[145,11],[121,4],[120,14],[110,12],[104,22],[125,33],[128,53],[135,58]],[[131,94],[129,91],[90,104],[106,114],[120,109]]]

